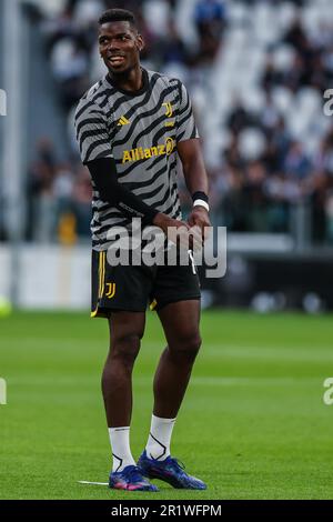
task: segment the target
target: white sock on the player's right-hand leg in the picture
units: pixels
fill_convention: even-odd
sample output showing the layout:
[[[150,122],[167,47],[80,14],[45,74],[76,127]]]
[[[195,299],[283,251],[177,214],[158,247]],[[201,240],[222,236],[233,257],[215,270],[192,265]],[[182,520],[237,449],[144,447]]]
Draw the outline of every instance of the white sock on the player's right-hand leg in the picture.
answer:
[[[145,451],[149,459],[164,461],[170,455],[170,441],[175,419],[152,415]]]

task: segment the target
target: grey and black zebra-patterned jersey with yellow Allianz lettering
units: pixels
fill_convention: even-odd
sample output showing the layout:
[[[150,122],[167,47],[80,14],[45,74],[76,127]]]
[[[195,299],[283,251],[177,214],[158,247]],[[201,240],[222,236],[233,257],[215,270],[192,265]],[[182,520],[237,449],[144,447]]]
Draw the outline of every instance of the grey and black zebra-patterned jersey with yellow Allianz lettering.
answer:
[[[120,183],[152,208],[181,219],[176,143],[198,138],[191,101],[178,79],[142,69],[143,84],[130,92],[109,76],[80,100],[75,131],[82,162],[113,157]],[[92,247],[108,248],[108,231],[130,219],[102,201],[92,182]]]

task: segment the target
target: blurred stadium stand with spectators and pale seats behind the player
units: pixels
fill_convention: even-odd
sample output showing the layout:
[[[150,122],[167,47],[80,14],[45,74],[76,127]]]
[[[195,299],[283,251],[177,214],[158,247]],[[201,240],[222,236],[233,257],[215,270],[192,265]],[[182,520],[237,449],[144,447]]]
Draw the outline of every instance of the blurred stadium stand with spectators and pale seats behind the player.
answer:
[[[189,87],[213,222],[235,232],[292,232],[294,210],[301,208],[312,242],[333,242],[333,120],[323,111],[333,79],[330,0],[30,3],[68,140],[59,151],[47,131],[36,135],[28,239],[89,237],[90,184],[78,157],[73,110],[104,73],[95,20],[105,8],[122,7],[140,20],[144,67]],[[181,191],[186,207],[182,185]]]

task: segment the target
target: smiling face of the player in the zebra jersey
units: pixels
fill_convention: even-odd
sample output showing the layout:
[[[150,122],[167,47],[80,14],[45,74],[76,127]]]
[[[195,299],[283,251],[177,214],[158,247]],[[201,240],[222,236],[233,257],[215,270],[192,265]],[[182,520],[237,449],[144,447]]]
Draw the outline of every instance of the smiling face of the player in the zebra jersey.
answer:
[[[129,22],[103,23],[99,30],[99,49],[110,72],[119,74],[139,64],[143,41]]]

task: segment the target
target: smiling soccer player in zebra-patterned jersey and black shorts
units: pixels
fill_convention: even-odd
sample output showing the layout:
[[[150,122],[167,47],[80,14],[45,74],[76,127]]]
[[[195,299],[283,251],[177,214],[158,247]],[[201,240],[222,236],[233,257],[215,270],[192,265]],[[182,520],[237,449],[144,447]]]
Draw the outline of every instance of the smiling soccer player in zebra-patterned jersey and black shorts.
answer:
[[[99,49],[108,73],[80,100],[75,129],[92,185],[92,317],[110,325],[102,392],[113,455],[110,488],[157,491],[149,479],[174,488],[205,489],[170,454],[174,422],[200,349],[200,288],[194,265],[110,265],[110,231],[133,218],[165,235],[170,228],[210,225],[208,178],[184,86],[140,66],[143,40],[133,13],[111,9],[99,20]],[[193,198],[181,221],[176,188],[180,158]],[[109,232],[109,233],[108,233]],[[161,231],[160,231],[161,232]],[[189,252],[191,257],[191,252]],[[138,463],[130,449],[132,370],[144,333],[148,303],[158,312],[168,347],[153,383],[147,446]]]

